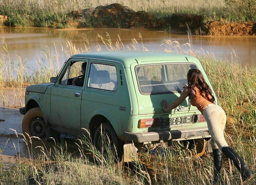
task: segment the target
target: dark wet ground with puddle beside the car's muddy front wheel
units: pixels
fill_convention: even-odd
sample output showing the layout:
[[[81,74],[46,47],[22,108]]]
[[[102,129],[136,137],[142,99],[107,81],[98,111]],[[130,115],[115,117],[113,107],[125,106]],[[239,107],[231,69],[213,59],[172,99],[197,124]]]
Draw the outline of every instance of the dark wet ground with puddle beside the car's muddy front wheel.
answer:
[[[26,143],[22,134],[22,114],[18,109],[13,108],[0,108],[0,151],[1,157],[5,165],[12,165],[17,158],[31,158],[31,155],[36,156],[40,154],[40,148],[53,151],[53,148],[61,146],[60,142],[57,144],[54,141],[41,141],[32,140],[32,145]],[[17,134],[16,134],[17,133]],[[77,145],[75,145],[74,138],[70,139],[66,135],[61,135],[62,141],[65,142],[64,146],[67,146],[67,150],[71,153],[76,153]],[[31,152],[32,151],[32,152]]]

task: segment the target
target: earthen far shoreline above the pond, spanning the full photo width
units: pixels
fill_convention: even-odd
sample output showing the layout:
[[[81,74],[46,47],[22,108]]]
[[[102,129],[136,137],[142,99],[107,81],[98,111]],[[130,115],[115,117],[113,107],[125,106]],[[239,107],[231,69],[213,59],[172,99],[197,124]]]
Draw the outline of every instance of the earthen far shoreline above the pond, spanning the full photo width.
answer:
[[[61,18],[51,17],[40,20],[35,16],[30,22],[19,22],[14,16],[0,15],[0,28],[53,28],[59,30],[77,30],[93,28],[147,29],[168,32],[192,32],[195,35],[210,36],[256,36],[256,21],[230,21],[224,18],[218,20],[199,14],[153,14],[144,10],[134,11],[126,6],[113,3],[73,10],[69,13],[56,13]],[[30,16],[30,15],[28,15]],[[32,16],[32,15],[31,15]],[[50,15],[43,15],[50,16]],[[30,17],[32,18],[32,17]],[[39,20],[38,20],[39,19]],[[17,23],[15,22],[17,21]]]

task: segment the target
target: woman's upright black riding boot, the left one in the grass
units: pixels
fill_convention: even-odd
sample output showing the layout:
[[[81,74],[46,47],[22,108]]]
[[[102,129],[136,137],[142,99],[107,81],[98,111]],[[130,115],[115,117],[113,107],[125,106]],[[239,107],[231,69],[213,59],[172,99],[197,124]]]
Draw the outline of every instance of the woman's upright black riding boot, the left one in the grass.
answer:
[[[214,184],[218,184],[221,182],[220,173],[222,168],[222,152],[220,149],[213,149],[212,154],[213,154],[213,164],[214,164],[213,179],[214,179]]]

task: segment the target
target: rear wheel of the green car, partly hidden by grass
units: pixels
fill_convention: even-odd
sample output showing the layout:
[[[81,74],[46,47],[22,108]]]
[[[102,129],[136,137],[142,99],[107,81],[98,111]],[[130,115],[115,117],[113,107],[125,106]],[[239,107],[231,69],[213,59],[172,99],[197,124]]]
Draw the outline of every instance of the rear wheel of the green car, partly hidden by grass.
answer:
[[[104,157],[109,158],[109,155],[114,155],[116,160],[122,158],[123,144],[110,123],[103,123],[98,126],[94,134],[93,144]]]

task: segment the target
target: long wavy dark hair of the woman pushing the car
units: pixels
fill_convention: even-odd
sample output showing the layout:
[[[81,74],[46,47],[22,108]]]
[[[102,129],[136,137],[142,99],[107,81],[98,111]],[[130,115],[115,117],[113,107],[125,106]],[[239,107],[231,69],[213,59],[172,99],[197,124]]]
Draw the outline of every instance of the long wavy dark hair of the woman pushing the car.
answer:
[[[205,82],[205,79],[203,77],[203,74],[198,69],[190,69],[187,72],[187,82],[188,82],[188,102],[189,102],[189,109],[191,107],[190,100],[194,98],[194,93],[196,93],[195,87],[199,89],[200,94],[210,102],[214,103],[215,98],[212,95],[212,91],[208,84]]]

